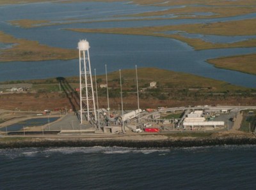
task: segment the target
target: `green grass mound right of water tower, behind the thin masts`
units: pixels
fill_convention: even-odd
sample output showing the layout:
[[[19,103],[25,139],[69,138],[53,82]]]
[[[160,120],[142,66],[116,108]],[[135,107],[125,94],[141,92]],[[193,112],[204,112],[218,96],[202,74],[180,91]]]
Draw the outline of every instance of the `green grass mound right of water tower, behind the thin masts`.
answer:
[[[228,84],[220,80],[214,80],[211,78],[199,77],[188,73],[168,71],[158,68],[138,68],[139,85],[143,87],[149,82],[156,81],[162,87],[171,85],[172,87],[184,88],[211,88],[211,91],[245,91],[246,87],[238,87],[236,85]],[[108,80],[119,77],[119,71],[114,71],[108,74]],[[122,70],[122,77],[125,80],[124,86],[132,86],[135,84],[136,73],[134,69]],[[99,75],[97,78],[102,78],[102,84],[104,84],[105,76]]]

